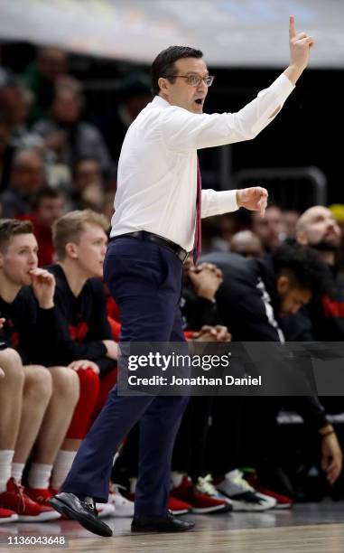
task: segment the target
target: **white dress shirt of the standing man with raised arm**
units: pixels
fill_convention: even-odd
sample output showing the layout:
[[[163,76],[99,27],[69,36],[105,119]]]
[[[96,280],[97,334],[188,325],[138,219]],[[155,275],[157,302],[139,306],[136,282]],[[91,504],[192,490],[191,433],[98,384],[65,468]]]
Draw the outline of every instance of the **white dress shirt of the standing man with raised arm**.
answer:
[[[111,237],[147,230],[191,251],[197,149],[254,138],[294,89],[280,75],[237,113],[194,114],[155,96],[128,128],[118,162]],[[237,210],[236,191],[203,190],[201,216]]]

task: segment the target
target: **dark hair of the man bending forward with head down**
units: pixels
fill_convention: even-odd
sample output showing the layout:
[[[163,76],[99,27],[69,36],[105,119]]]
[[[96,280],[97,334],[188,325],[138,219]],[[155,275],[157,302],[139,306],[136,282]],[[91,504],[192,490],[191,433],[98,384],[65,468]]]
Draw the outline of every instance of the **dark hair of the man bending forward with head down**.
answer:
[[[327,294],[330,292],[330,271],[319,254],[305,246],[283,244],[273,252],[274,270],[286,275],[297,288]]]

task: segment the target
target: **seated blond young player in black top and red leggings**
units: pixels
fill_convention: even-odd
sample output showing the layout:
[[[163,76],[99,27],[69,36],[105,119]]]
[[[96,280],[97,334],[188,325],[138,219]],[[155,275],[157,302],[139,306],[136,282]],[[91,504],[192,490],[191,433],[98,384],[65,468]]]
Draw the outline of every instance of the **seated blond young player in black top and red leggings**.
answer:
[[[116,383],[117,344],[107,321],[101,282],[107,227],[105,217],[90,210],[71,211],[52,227],[58,262],[48,270],[56,279],[54,303],[62,332],[56,359],[77,370],[80,382],[79,403],[59,453],[64,468],[59,478],[52,481],[56,489],[67,476],[82,438]],[[127,511],[128,504],[118,492],[110,499],[117,515]],[[104,516],[106,504],[100,509],[99,514]],[[131,504],[128,516],[132,511]]]

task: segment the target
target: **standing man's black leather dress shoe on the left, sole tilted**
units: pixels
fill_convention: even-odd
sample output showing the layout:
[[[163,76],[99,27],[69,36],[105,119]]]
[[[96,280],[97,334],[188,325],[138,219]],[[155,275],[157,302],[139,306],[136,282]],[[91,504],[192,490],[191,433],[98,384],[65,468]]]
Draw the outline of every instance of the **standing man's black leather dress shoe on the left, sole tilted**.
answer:
[[[49,500],[51,507],[60,514],[78,522],[94,534],[112,536],[112,530],[107,524],[98,519],[98,511],[94,502],[81,501],[74,493],[60,492]]]

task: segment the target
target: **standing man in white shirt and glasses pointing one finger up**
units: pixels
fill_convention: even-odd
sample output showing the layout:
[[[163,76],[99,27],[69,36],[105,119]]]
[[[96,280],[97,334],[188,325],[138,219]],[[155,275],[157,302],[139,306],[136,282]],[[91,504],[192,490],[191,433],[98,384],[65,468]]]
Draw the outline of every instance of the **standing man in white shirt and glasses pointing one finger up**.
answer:
[[[121,314],[121,342],[183,342],[179,299],[182,263],[200,251],[200,216],[245,207],[265,211],[267,192],[201,191],[198,148],[254,138],[282,108],[306,68],[312,39],[290,19],[291,62],[269,89],[235,114],[203,114],[213,81],[202,52],[172,46],[153,61],[155,97],[129,127],[118,181],[105,278]],[[118,396],[107,404],[79,448],[57,511],[90,531],[111,536],[95,501],[107,501],[117,445],[140,420],[139,476],[132,531],[191,530],[167,511],[174,438],[185,397]]]

